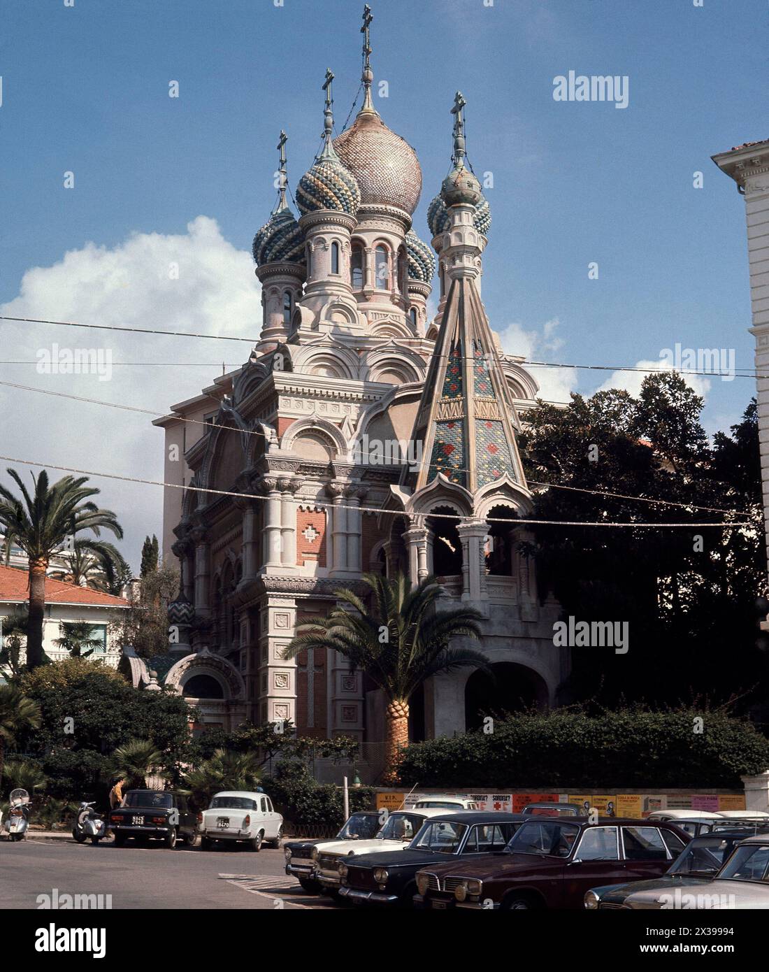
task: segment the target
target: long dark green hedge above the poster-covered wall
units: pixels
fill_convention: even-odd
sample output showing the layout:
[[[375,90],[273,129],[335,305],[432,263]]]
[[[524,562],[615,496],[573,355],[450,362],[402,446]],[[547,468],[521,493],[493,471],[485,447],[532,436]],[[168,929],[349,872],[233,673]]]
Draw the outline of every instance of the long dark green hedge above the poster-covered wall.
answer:
[[[695,719],[702,718],[702,733]],[[769,769],[769,740],[722,710],[589,715],[556,710],[498,719],[494,732],[414,743],[403,785],[572,788],[740,787]]]

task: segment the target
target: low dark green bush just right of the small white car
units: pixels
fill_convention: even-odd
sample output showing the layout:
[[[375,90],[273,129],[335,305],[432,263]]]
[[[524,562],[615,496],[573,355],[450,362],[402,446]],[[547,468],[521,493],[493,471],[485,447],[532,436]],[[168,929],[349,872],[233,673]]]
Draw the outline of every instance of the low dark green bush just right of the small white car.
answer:
[[[262,779],[262,786],[276,810],[296,826],[341,827],[344,823],[341,787],[315,781],[300,759],[280,760],[273,776]],[[351,814],[373,806],[374,791],[370,786],[352,787],[349,793]]]

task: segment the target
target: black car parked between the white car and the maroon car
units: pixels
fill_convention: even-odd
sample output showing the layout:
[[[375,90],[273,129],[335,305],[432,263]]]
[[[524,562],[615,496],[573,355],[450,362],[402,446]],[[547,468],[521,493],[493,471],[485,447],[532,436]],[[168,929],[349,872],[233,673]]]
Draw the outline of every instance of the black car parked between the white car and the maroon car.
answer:
[[[460,855],[464,859],[502,851],[527,819],[531,817],[474,810],[432,816],[402,851],[362,854],[340,864],[339,895],[353,904],[409,907],[418,870]]]

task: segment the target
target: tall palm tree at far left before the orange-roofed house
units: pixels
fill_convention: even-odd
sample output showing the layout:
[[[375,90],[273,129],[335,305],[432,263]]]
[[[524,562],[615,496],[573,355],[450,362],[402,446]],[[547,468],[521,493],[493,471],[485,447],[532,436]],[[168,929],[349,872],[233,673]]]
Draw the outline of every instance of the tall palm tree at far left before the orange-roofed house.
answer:
[[[11,546],[16,543],[29,560],[29,629],[26,640],[27,667],[32,669],[44,662],[43,615],[46,607],[46,574],[52,554],[67,537],[91,531],[96,537],[102,528],[122,538],[122,527],[115,513],[99,509],[88,497],[99,490],[86,486],[87,477],[64,476],[49,483],[48,472],[32,473],[34,494],[27,492],[16,469],[8,474],[17,484],[22,499],[0,485],[0,526],[5,538],[6,563]]]

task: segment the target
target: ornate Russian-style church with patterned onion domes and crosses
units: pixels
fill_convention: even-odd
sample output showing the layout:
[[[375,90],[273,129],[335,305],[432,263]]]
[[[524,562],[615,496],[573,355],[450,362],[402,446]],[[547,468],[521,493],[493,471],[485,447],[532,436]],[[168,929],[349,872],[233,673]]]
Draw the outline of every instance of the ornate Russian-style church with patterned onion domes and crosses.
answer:
[[[489,705],[555,702],[570,659],[553,645],[558,606],[519,551],[533,503],[516,436],[538,385],[522,358],[502,360],[481,302],[491,216],[465,160],[464,99],[428,212],[431,248],[411,228],[417,156],[372,104],[367,35],[364,53],[363,107],[336,139],[327,77],[298,221],[281,136],[282,189],[254,240],[262,335],[250,360],[156,425],[166,481],[222,491],[166,490],[163,553],[183,575],[169,608],[182,632],[167,659],[174,684],[204,721],[291,719],[305,735],[377,742],[382,702],[360,672],[322,652],[283,656],[297,625],[327,613],[338,587],[360,589],[364,572],[436,573],[447,606],[484,617],[496,681],[430,679],[412,700],[415,738],[463,732]],[[137,665],[134,682],[148,677]]]

